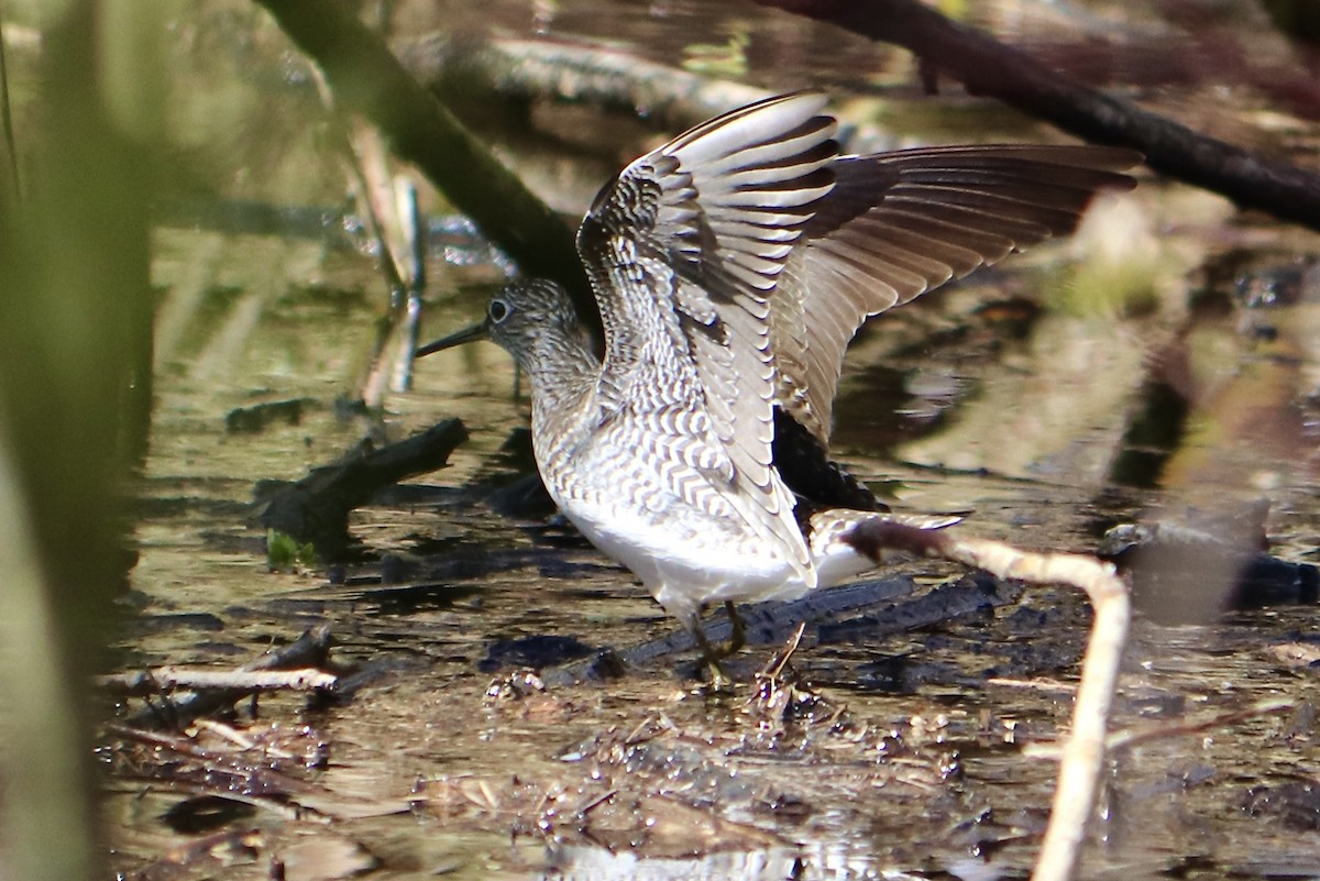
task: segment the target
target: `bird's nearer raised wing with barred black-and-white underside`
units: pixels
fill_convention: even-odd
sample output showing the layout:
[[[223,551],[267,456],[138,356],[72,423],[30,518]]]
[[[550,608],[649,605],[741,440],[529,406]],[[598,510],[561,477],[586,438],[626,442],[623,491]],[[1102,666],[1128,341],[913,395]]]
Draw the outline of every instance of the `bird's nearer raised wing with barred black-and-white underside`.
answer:
[[[606,406],[702,408],[733,466],[733,499],[803,571],[793,499],[771,466],[771,301],[833,186],[822,95],[772,98],[704,123],[630,165],[578,231],[605,327]]]

